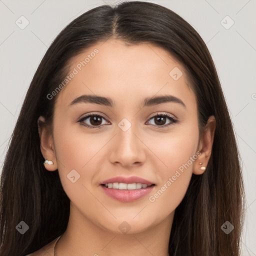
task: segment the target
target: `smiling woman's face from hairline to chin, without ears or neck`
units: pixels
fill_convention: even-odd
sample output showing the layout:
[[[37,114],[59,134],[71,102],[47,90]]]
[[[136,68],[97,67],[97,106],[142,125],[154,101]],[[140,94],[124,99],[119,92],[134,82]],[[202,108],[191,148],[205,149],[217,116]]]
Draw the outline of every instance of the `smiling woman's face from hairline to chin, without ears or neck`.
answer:
[[[198,161],[196,99],[183,66],[160,47],[110,39],[75,56],[69,77],[56,95],[52,138],[71,212],[119,233],[173,216]]]

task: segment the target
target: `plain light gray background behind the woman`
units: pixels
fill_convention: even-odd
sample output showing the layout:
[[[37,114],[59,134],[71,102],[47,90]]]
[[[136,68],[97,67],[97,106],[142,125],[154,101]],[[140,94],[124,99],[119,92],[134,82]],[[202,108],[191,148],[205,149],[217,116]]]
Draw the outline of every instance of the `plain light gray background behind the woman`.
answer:
[[[52,40],[81,13],[103,3],[115,2],[0,0],[1,167],[25,93]],[[247,205],[242,255],[256,255],[256,0],[151,2],[166,6],[187,20],[199,32],[212,54],[242,158]],[[16,20],[21,23],[21,15],[29,21],[24,29],[15,23]],[[225,18],[226,15],[231,19]],[[234,24],[229,27],[232,20]]]

